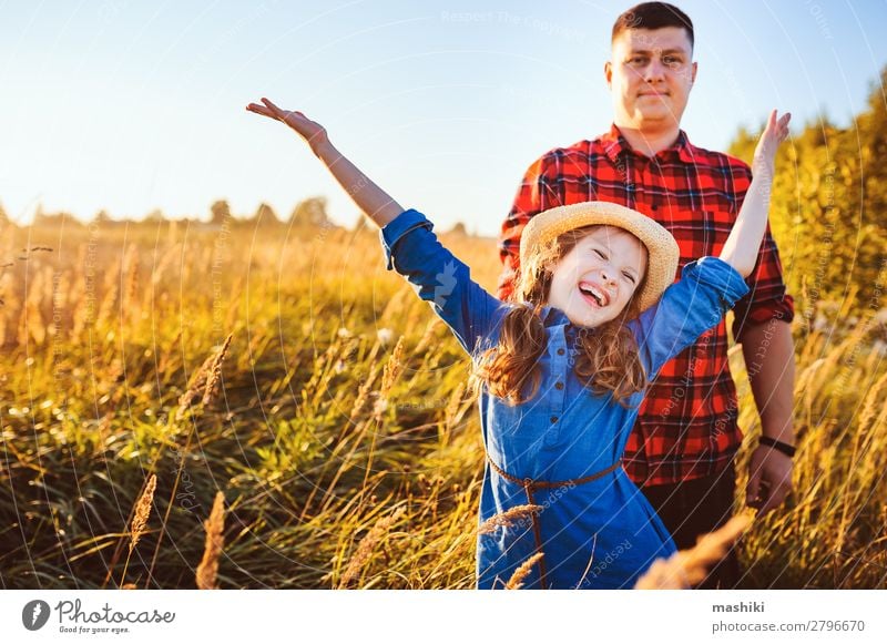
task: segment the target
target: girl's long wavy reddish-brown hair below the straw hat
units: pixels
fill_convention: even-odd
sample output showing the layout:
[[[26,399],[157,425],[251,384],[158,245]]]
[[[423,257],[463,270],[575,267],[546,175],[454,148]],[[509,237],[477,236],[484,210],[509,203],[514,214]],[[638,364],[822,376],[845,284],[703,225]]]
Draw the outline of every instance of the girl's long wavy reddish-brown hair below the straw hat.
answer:
[[[569,231],[540,247],[520,267],[514,299],[518,306],[502,319],[499,344],[476,361],[470,382],[475,392],[487,385],[490,393],[509,405],[530,400],[539,391],[542,374],[539,358],[546,350],[546,327],[541,318],[548,301],[554,267],[597,226]],[[646,276],[634,289],[641,292]],[[620,315],[593,329],[580,329],[573,372],[595,393],[612,392],[623,407],[628,398],[643,391],[649,381],[638,354],[634,336],[624,323],[640,314],[632,296]]]

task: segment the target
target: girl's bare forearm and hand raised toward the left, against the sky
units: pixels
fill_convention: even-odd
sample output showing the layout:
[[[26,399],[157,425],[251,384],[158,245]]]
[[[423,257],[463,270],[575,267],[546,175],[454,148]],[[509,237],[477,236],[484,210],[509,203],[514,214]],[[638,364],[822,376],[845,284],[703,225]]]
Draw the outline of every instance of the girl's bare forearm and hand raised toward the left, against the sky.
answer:
[[[351,201],[364,211],[380,228],[391,222],[397,215],[404,212],[395,200],[384,190],[377,186],[367,175],[348,161],[329,142],[326,130],[318,123],[309,120],[302,112],[290,112],[281,110],[277,105],[262,99],[264,105],[249,103],[246,109],[249,112],[262,114],[275,121],[285,123],[295,130],[308,143],[317,157],[324,162],[329,172],[336,177],[339,185],[345,188]]]

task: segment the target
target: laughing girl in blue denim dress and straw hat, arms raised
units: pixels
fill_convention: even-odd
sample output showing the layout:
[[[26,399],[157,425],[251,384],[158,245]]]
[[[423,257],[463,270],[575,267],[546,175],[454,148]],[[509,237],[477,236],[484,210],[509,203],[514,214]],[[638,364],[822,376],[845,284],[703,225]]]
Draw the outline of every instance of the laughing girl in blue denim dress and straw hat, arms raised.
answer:
[[[487,468],[479,523],[522,504],[524,521],[478,536],[477,585],[502,587],[533,555],[528,589],[623,589],[674,542],[620,467],[644,389],[660,367],[748,290],[767,222],[769,178],[789,114],[774,111],[754,180],[720,257],[684,266],[677,244],[629,208],[588,202],[533,217],[520,247],[518,304],[496,299],[300,112],[247,110],[300,134],[380,228],[388,269],[406,277],[472,357]]]

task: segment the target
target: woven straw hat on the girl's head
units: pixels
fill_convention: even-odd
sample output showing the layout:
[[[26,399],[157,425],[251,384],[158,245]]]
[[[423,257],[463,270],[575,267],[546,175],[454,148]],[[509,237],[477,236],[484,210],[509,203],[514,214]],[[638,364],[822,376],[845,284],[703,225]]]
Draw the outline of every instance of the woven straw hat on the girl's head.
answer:
[[[649,254],[646,282],[638,294],[639,306],[645,310],[656,304],[662,293],[674,282],[680,255],[677,242],[656,222],[631,208],[610,202],[583,202],[543,211],[530,218],[520,238],[520,263],[537,246],[583,226],[605,225],[623,228],[638,237]]]

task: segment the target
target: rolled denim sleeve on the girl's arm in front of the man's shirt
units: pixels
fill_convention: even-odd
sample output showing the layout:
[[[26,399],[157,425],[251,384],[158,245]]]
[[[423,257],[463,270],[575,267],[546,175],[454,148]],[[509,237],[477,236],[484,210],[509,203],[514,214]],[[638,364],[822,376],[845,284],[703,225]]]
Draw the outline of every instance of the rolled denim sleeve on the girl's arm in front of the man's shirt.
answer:
[[[723,259],[703,257],[684,266],[659,303],[628,323],[648,378],[720,323],[746,293],[742,275]]]

